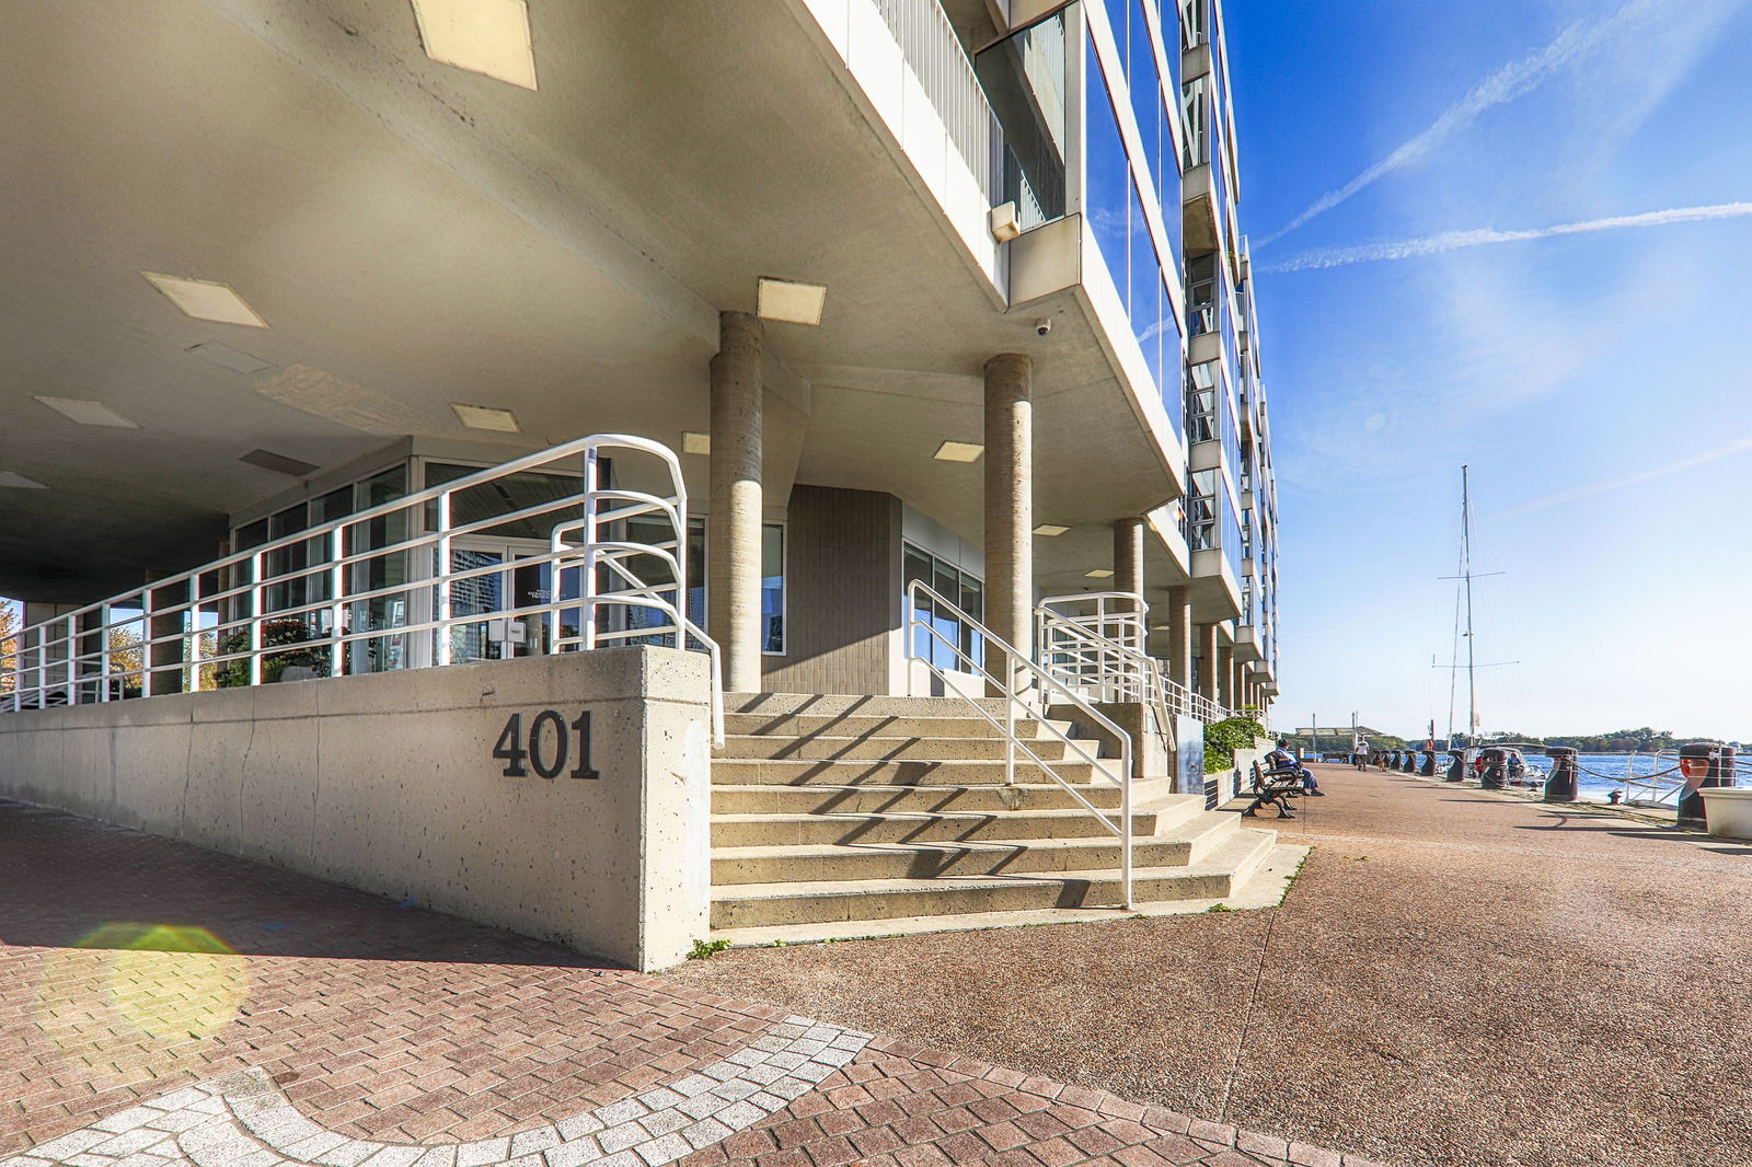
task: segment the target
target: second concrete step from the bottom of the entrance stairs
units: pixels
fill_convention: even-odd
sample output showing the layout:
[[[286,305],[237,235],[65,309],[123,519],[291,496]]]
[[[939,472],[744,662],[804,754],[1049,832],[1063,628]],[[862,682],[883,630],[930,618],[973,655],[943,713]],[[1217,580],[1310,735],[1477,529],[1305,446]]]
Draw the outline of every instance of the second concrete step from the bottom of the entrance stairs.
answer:
[[[1139,867],[1184,867],[1240,829],[1235,815],[1202,813],[1167,834],[1137,838]],[[922,880],[1118,867],[1120,841],[1100,838],[974,839],[958,843],[809,843],[713,846],[711,883]]]

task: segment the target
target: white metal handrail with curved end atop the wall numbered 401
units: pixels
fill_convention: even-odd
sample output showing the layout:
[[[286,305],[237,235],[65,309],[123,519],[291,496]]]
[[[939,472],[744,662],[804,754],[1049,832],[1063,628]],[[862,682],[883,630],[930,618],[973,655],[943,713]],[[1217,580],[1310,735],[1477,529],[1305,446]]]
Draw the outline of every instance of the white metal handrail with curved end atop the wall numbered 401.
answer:
[[[671,494],[604,487],[601,484],[599,456],[603,450],[634,450],[657,457],[669,477]],[[554,463],[583,461],[580,489],[561,498],[517,506],[470,522],[452,522],[452,499],[470,489],[482,487],[527,470]],[[573,471],[576,473],[576,471]],[[399,536],[382,533],[371,536],[366,524],[392,517],[408,517],[408,526],[420,522],[426,510],[434,510],[433,529]],[[513,561],[454,568],[452,547],[459,538],[494,536],[492,531],[508,522],[534,520],[554,515],[548,550]],[[610,526],[634,517],[652,517],[668,527],[668,538],[650,543],[604,538]],[[583,538],[576,538],[583,533]],[[349,538],[349,534],[352,538]],[[371,538],[391,541],[373,547]],[[361,538],[363,536],[363,538]],[[350,545],[349,545],[350,543]],[[629,641],[673,640],[676,648],[697,647],[711,659],[711,725],[713,741],[724,743],[724,685],[722,654],[703,629],[687,619],[687,487],[676,456],[664,445],[632,435],[590,435],[547,450],[527,454],[499,466],[456,478],[434,487],[378,503],[364,510],[328,520],[324,524],[286,534],[249,550],[221,555],[191,571],[154,580],[137,589],[75,608],[49,620],[21,629],[11,643],[0,645],[0,710],[19,711],[46,704],[105,703],[126,696],[130,682],[137,682],[140,696],[158,696],[154,678],[172,675],[173,685],[165,690],[200,692],[214,687],[208,669],[244,662],[247,683],[263,683],[265,661],[305,657],[333,676],[345,673],[347,648],[359,643],[389,643],[398,652],[412,648],[403,657],[403,668],[450,664],[452,629],[482,626],[492,620],[547,615],[548,652],[590,648],[596,640]],[[314,562],[287,564],[272,569],[279,552],[301,552]],[[422,569],[417,552],[431,554],[431,566]],[[634,555],[653,555],[669,573],[669,580],[648,584],[625,561]],[[371,564],[385,564],[385,575],[410,578],[391,584],[371,584]],[[503,606],[492,612],[457,613],[457,585],[482,580],[517,566],[548,564],[552,591],[541,603]],[[561,599],[562,578],[575,573],[576,596]],[[303,591],[296,599],[270,603],[272,592]],[[326,592],[310,598],[308,592]],[[673,599],[671,599],[673,598]],[[371,627],[373,613],[361,605],[370,601],[396,601],[401,612],[387,627]],[[168,601],[168,603],[166,603]],[[657,624],[624,629],[597,629],[597,612],[618,610],[631,622],[636,610],[657,613]],[[561,615],[582,612],[585,634],[562,636]],[[158,631],[165,626],[172,631]],[[303,640],[266,643],[268,629],[296,626]],[[312,633],[315,633],[312,636]],[[226,647],[226,640],[244,645]],[[116,643],[126,638],[126,643]],[[93,647],[95,645],[95,647]],[[154,652],[168,647],[173,659],[154,661]],[[322,655],[326,654],[326,661]],[[30,657],[35,657],[32,662]],[[429,657],[429,659],[420,659]]]

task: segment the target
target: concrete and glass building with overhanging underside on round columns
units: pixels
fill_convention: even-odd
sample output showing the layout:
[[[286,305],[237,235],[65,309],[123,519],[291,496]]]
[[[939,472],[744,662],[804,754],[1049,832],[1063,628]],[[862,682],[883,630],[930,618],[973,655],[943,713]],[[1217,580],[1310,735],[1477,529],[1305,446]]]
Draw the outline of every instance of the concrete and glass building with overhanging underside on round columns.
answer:
[[[1268,711],[1216,0],[12,18],[14,713],[657,640],[717,694]],[[503,773],[587,776],[527,717]]]

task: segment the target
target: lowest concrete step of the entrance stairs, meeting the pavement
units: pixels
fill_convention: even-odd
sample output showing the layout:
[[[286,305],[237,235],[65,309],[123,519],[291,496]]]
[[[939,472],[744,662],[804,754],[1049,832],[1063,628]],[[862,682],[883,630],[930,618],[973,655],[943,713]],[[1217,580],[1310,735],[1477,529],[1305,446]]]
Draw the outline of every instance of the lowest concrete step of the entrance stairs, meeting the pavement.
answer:
[[[1275,841],[1275,831],[1239,829],[1198,864],[1135,867],[1134,899],[1223,899],[1260,869]],[[1118,901],[1116,869],[743,883],[713,888],[711,927],[732,943],[746,929],[829,922],[843,922],[843,936],[864,936],[860,923],[872,920],[1100,908]]]

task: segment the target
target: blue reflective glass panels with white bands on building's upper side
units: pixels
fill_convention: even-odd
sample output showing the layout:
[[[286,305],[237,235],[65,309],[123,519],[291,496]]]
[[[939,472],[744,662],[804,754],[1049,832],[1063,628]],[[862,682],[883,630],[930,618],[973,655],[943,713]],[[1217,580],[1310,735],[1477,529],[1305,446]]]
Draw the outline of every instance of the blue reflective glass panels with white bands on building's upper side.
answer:
[[[1156,0],[1090,0],[1083,46],[1083,214],[1125,301],[1155,393],[1183,433],[1181,172],[1167,95],[1179,91],[1179,44],[1158,44]],[[1158,49],[1162,53],[1158,54]],[[1169,51],[1172,49],[1172,51]],[[1169,63],[1163,77],[1162,63]],[[1135,137],[1134,137],[1135,135]],[[1135,142],[1135,147],[1132,145]]]

